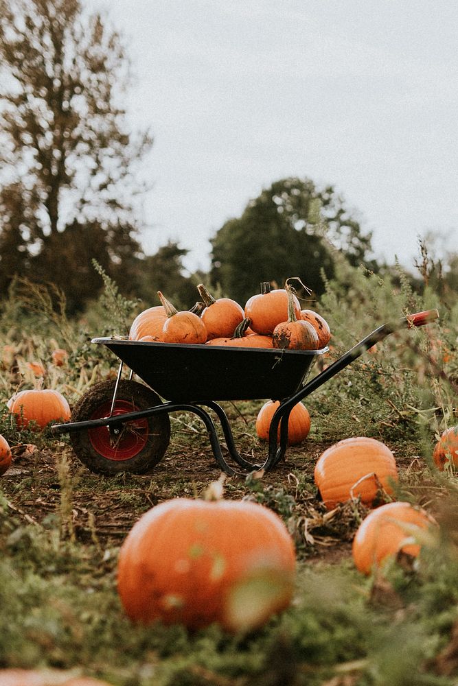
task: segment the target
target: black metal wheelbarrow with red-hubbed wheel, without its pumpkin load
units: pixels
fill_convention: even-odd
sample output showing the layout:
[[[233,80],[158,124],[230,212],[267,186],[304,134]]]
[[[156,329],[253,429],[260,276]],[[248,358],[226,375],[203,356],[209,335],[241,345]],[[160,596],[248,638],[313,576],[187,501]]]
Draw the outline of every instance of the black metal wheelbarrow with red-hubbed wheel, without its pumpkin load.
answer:
[[[168,447],[169,414],[193,412],[207,428],[222,471],[229,475],[267,471],[284,457],[288,418],[297,403],[385,336],[421,327],[438,316],[433,309],[382,324],[310,381],[306,379],[312,364],[328,348],[290,351],[94,338],[93,343],[105,345],[119,357],[117,379],[93,386],[73,407],[71,421],[54,424],[51,431],[69,433],[76,456],[93,472],[144,473],[161,460]],[[130,368],[128,379],[122,379],[124,364]],[[144,383],[133,381],[134,373]],[[280,401],[271,420],[263,464],[253,464],[240,455],[225,410],[217,402],[256,399]],[[236,469],[223,454],[214,417]]]

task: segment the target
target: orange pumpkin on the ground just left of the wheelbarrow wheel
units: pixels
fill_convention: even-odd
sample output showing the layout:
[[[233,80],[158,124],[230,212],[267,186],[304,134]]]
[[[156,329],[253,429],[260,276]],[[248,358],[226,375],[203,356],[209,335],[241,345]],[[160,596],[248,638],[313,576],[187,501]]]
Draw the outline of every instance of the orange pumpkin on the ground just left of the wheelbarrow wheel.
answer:
[[[21,429],[31,421],[43,429],[50,421],[67,421],[71,414],[65,397],[51,389],[21,390],[10,399],[8,407],[16,415],[16,423]]]

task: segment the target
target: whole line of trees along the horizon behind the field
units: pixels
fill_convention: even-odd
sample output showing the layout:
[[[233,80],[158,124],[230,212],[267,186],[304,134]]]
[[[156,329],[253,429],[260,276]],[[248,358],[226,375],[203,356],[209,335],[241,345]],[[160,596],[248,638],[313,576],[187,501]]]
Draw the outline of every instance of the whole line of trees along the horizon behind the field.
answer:
[[[128,127],[122,36],[80,0],[0,0],[0,75],[1,294],[15,275],[52,282],[81,311],[102,287],[94,260],[126,296],[157,304],[166,284],[178,307],[194,304],[199,281],[242,304],[288,276],[319,296],[337,252],[384,268],[345,200],[310,178],[274,182],[225,222],[208,274],[186,274],[188,251],[172,241],[145,255],[138,200],[152,135]]]

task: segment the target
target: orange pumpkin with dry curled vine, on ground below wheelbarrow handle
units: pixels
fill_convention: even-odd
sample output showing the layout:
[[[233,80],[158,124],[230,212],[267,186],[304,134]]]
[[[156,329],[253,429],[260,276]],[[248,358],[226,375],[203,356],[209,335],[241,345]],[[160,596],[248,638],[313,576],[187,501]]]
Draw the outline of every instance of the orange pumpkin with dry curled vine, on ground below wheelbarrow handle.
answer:
[[[314,480],[323,502],[328,510],[350,497],[360,497],[361,501],[371,506],[377,495],[380,484],[392,493],[390,482],[398,481],[398,469],[391,450],[375,438],[357,436],[344,438],[325,450],[319,457],[314,469]],[[360,479],[358,486],[352,487]]]

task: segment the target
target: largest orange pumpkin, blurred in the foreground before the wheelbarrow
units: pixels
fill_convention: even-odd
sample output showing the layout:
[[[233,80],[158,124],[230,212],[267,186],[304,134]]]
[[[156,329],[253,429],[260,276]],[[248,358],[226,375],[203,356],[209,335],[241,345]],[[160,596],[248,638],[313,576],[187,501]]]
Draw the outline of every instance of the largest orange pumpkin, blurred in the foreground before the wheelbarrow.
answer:
[[[284,584],[264,623],[293,593],[295,549],[277,514],[246,501],[177,498],[146,512],[130,530],[117,583],[135,622],[192,629],[218,622],[232,631],[231,591],[257,573],[273,573]]]

